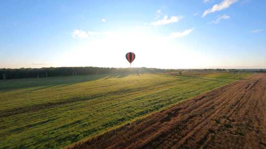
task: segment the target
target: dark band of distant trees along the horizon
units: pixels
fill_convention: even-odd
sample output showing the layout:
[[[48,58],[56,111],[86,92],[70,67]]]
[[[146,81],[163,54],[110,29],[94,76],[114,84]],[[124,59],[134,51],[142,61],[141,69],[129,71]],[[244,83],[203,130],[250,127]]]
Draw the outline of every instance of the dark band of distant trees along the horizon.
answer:
[[[98,74],[143,74],[143,73],[167,73],[178,71],[204,71],[204,72],[236,72],[236,71],[256,71],[265,70],[236,70],[236,69],[156,69],[156,68],[103,68],[103,67],[49,67],[49,68],[20,68],[20,69],[0,69],[0,79],[14,78],[38,78],[71,75],[98,75]]]

